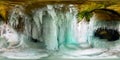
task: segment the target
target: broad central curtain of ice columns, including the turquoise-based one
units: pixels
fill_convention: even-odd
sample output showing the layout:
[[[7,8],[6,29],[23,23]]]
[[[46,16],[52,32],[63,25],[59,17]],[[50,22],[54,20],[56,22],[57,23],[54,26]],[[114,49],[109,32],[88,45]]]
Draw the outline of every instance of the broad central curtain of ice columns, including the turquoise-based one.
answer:
[[[77,11],[73,5],[47,5],[35,11],[33,19],[41,27],[41,37],[47,49],[58,50],[62,46],[77,44],[74,36]]]

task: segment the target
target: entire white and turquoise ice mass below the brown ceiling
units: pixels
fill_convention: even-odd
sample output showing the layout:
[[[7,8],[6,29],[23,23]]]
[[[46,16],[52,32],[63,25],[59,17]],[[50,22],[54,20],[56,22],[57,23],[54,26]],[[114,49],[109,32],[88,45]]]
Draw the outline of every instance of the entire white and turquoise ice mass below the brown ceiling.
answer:
[[[93,15],[90,22],[84,18],[77,23],[77,9],[74,5],[45,5],[32,10],[30,14],[25,13],[24,9],[22,5],[16,5],[9,11],[7,23],[0,24],[0,48],[24,48],[17,51],[16,58],[24,58],[20,54],[26,58],[34,56],[38,59],[48,54],[55,58],[103,57],[109,56],[107,53],[102,54],[109,50],[103,48],[119,47],[119,40],[107,42],[93,35],[99,27],[109,25],[109,29],[119,29],[119,21],[100,21]],[[15,58],[16,51],[13,55],[12,53],[3,55]]]

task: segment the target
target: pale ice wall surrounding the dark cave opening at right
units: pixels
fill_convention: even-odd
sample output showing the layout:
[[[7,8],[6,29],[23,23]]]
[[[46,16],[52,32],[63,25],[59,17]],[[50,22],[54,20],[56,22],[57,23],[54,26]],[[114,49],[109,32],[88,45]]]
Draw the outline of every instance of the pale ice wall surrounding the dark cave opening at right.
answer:
[[[94,14],[90,19],[89,29],[88,29],[88,32],[86,34],[88,43],[96,48],[111,48],[111,47],[115,47],[115,46],[119,45],[120,38],[116,41],[110,42],[107,39],[100,39],[100,38],[94,36],[94,32],[99,28],[119,31],[119,23],[120,23],[119,20],[117,20],[117,21],[100,20],[97,18],[96,14]],[[112,33],[114,34],[113,31],[112,31]]]

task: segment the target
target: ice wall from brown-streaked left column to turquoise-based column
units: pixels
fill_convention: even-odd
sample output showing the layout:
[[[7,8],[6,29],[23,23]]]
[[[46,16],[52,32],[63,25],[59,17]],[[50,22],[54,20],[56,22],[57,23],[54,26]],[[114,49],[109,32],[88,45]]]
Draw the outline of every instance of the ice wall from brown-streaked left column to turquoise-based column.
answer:
[[[75,34],[76,14],[74,5],[46,5],[32,10],[31,15],[24,12],[24,7],[15,6],[10,11],[8,24],[16,29],[18,34],[44,43],[48,50],[74,48],[78,45]]]

